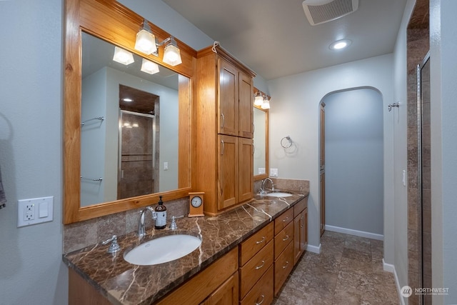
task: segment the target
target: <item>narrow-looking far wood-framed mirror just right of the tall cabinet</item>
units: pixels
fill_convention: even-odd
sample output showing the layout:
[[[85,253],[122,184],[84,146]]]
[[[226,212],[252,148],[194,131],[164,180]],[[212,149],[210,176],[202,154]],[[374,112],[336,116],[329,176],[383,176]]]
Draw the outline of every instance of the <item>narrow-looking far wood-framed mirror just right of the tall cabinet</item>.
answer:
[[[254,88],[254,95],[263,92]],[[268,96],[268,99],[270,97]],[[254,151],[253,151],[253,178],[254,181],[268,177],[268,116],[269,110],[262,109],[260,106],[253,106],[254,124]]]

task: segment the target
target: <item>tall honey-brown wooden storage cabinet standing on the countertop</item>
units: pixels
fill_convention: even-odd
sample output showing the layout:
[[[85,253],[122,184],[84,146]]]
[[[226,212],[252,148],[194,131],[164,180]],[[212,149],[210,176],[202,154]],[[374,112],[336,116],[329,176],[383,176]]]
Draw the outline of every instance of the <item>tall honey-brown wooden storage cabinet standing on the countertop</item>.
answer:
[[[253,77],[224,49],[197,54],[194,189],[215,216],[253,198]]]

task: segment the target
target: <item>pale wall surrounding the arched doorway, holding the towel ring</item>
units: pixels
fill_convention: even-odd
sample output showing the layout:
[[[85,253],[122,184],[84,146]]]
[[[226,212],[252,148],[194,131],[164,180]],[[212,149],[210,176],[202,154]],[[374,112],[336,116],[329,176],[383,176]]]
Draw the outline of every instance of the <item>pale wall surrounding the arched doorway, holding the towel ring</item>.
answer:
[[[318,126],[319,103],[332,91],[373,87],[383,96],[384,134],[384,259],[393,264],[393,147],[392,120],[387,105],[393,103],[391,54],[354,61],[268,81],[273,99],[270,109],[270,167],[281,178],[308,179],[308,241],[319,246]],[[280,141],[291,136],[296,154],[285,154]]]

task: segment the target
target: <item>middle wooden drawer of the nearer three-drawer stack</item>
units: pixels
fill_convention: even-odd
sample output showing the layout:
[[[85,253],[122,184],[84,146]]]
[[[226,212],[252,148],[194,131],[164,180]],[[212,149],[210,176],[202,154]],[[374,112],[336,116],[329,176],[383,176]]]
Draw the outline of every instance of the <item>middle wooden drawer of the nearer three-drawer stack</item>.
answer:
[[[240,296],[246,296],[252,286],[265,273],[269,266],[273,264],[273,241],[266,246],[240,268]]]

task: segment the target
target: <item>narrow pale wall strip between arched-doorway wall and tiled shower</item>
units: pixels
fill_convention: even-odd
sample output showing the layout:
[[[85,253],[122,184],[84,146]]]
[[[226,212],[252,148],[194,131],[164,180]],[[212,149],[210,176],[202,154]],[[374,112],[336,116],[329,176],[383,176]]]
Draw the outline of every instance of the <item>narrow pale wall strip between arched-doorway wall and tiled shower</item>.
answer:
[[[393,116],[393,169],[394,169],[394,266],[398,286],[408,284],[408,203],[407,188],[403,186],[402,171],[406,170],[407,134],[407,71],[406,71],[406,28],[415,0],[408,0],[398,31],[393,51],[393,100],[400,102],[399,108],[392,109]],[[407,179],[407,177],[406,177]]]

